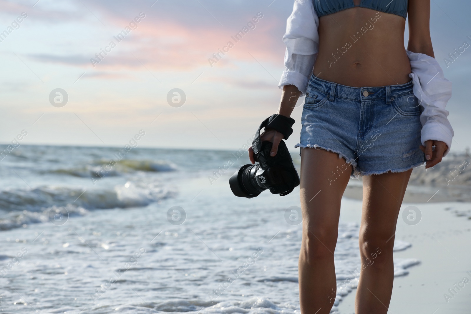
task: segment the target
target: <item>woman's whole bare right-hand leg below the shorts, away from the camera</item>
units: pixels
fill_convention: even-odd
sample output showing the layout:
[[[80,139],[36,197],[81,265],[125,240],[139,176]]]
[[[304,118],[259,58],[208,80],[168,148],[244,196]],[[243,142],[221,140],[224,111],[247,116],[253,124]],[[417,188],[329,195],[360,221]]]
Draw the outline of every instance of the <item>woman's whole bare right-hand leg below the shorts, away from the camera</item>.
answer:
[[[357,314],[388,312],[393,282],[394,233],[411,173],[412,169],[363,177],[359,236],[362,268],[355,298]]]

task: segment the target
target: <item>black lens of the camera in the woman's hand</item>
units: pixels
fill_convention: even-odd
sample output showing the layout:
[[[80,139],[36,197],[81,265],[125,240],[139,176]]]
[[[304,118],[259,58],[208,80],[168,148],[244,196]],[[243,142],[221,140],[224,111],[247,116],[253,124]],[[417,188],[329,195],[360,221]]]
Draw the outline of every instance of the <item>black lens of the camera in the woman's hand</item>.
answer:
[[[265,191],[264,187],[257,184],[255,175],[260,165],[244,165],[229,179],[232,193],[238,197],[252,198]]]

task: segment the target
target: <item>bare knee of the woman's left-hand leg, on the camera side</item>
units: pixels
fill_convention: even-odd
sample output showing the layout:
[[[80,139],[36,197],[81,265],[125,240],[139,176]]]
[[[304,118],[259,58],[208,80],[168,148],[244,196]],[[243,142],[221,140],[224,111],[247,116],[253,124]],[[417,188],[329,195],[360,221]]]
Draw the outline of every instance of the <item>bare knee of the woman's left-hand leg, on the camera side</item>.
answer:
[[[308,264],[313,264],[318,259],[333,258],[335,244],[337,243],[336,228],[307,228],[303,234],[304,258]]]

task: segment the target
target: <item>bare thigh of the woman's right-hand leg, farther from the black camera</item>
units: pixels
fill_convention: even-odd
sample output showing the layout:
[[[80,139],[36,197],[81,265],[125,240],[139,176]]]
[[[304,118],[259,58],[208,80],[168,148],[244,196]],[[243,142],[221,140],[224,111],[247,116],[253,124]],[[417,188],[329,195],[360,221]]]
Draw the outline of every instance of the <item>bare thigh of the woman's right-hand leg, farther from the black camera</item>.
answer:
[[[399,209],[412,169],[363,177],[360,235],[388,241],[396,232]],[[394,240],[391,239],[391,245]]]

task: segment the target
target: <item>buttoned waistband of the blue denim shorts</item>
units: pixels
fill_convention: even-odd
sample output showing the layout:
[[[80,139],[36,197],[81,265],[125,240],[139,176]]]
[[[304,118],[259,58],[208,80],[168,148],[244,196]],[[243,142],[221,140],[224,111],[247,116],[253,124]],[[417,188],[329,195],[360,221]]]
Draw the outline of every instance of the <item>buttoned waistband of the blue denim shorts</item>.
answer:
[[[319,79],[313,74],[309,79],[308,87],[317,89],[321,93],[329,94],[329,100],[340,97],[355,101],[369,101],[385,99],[390,103],[391,98],[404,96],[413,92],[414,82],[405,84],[376,86],[376,87],[352,87]]]

